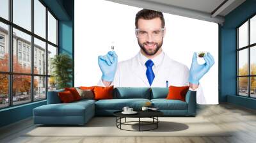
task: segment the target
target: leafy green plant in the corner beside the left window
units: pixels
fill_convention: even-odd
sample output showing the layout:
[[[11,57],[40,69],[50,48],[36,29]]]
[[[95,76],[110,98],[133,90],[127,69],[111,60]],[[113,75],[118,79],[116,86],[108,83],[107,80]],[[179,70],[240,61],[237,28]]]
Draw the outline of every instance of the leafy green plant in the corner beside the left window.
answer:
[[[57,89],[70,87],[72,80],[72,59],[67,54],[59,54],[51,59],[52,76]]]

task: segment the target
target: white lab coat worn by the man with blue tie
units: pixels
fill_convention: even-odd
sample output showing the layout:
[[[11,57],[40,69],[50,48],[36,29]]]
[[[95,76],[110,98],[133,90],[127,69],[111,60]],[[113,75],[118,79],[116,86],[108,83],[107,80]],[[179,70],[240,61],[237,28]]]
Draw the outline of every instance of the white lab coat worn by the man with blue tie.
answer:
[[[154,72],[155,78],[150,86],[146,75],[147,68],[141,63],[140,54],[139,52],[131,59],[118,63],[111,85],[114,87],[166,87],[167,80],[168,86],[189,86],[189,68],[185,64],[174,61],[164,52],[163,60],[157,72]],[[104,86],[101,79],[98,86]],[[193,89],[189,88],[189,90]],[[201,85],[194,91],[196,91],[197,100],[204,100]]]

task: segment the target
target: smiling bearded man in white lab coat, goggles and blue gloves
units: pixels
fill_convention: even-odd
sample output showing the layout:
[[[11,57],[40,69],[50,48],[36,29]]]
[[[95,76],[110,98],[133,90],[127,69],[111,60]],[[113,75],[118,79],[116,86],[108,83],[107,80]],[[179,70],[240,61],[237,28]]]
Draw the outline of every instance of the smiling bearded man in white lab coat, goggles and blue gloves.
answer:
[[[196,90],[199,80],[214,64],[211,54],[205,54],[205,64],[198,64],[194,53],[191,68],[172,60],[163,52],[165,34],[163,13],[141,10],[136,14],[135,34],[140,52],[131,59],[117,62],[117,55],[109,51],[98,57],[102,78],[99,86],[168,87],[189,86]]]

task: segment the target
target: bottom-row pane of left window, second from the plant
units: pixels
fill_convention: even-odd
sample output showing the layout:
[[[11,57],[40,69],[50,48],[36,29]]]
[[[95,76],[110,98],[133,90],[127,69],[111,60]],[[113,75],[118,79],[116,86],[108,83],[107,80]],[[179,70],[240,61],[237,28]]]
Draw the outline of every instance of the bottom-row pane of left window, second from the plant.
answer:
[[[34,100],[46,98],[46,77],[34,77]]]

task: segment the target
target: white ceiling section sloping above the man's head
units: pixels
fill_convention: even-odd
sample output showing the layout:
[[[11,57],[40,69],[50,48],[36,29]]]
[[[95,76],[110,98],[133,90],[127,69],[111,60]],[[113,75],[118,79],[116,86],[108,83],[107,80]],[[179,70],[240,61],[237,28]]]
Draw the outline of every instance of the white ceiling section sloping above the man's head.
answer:
[[[108,0],[223,24],[225,15],[245,0]],[[222,4],[223,3],[223,4]],[[220,6],[222,4],[222,6]],[[218,8],[219,7],[219,8]]]

